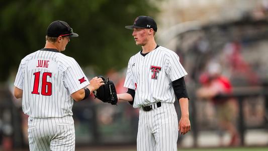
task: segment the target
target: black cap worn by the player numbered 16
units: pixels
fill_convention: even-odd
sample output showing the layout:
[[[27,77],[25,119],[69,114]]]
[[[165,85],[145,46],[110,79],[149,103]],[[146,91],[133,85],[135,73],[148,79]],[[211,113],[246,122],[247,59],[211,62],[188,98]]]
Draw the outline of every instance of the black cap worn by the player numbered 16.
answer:
[[[59,36],[69,36],[78,37],[78,34],[72,32],[72,28],[63,21],[54,21],[47,28],[47,36],[49,37],[59,37]]]

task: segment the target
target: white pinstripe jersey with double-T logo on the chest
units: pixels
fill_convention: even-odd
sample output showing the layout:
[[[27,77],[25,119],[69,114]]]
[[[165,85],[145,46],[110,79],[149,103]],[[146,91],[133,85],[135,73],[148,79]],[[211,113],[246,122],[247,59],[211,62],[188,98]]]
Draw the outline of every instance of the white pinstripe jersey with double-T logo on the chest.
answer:
[[[134,108],[154,102],[174,103],[172,81],[187,75],[178,55],[164,47],[157,47],[147,55],[132,56],[124,87],[135,90]]]

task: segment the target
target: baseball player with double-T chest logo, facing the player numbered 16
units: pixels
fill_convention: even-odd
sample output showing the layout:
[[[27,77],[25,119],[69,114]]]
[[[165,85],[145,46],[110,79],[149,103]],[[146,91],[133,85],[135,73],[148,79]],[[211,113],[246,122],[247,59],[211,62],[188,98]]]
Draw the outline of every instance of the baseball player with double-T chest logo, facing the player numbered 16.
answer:
[[[124,83],[128,91],[118,94],[118,100],[140,109],[137,150],[177,150],[178,131],[185,134],[191,128],[184,82],[187,72],[175,52],[156,44],[157,25],[151,17],[139,16],[126,28],[133,30],[136,45],[142,50],[128,62]],[[182,110],[180,122],[174,94]]]

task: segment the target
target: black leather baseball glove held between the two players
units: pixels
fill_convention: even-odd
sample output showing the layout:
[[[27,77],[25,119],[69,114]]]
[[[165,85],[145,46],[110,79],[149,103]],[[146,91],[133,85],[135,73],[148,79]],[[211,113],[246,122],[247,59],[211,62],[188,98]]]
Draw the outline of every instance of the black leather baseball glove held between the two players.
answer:
[[[109,78],[107,78],[107,80],[102,76],[99,76],[98,78],[103,79],[104,85],[102,85],[98,90],[93,91],[95,98],[98,98],[103,102],[116,105],[118,98],[114,83],[110,81]]]

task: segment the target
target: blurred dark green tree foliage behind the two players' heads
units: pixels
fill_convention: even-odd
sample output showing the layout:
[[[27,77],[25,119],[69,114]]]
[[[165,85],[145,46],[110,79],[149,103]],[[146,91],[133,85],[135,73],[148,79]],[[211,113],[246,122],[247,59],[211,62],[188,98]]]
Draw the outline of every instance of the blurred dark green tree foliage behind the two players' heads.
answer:
[[[66,21],[79,34],[63,53],[80,65],[92,66],[99,74],[126,67],[139,47],[124,27],[139,15],[154,16],[157,1],[2,1],[0,82],[18,69],[24,56],[44,47],[46,29],[55,20]]]

